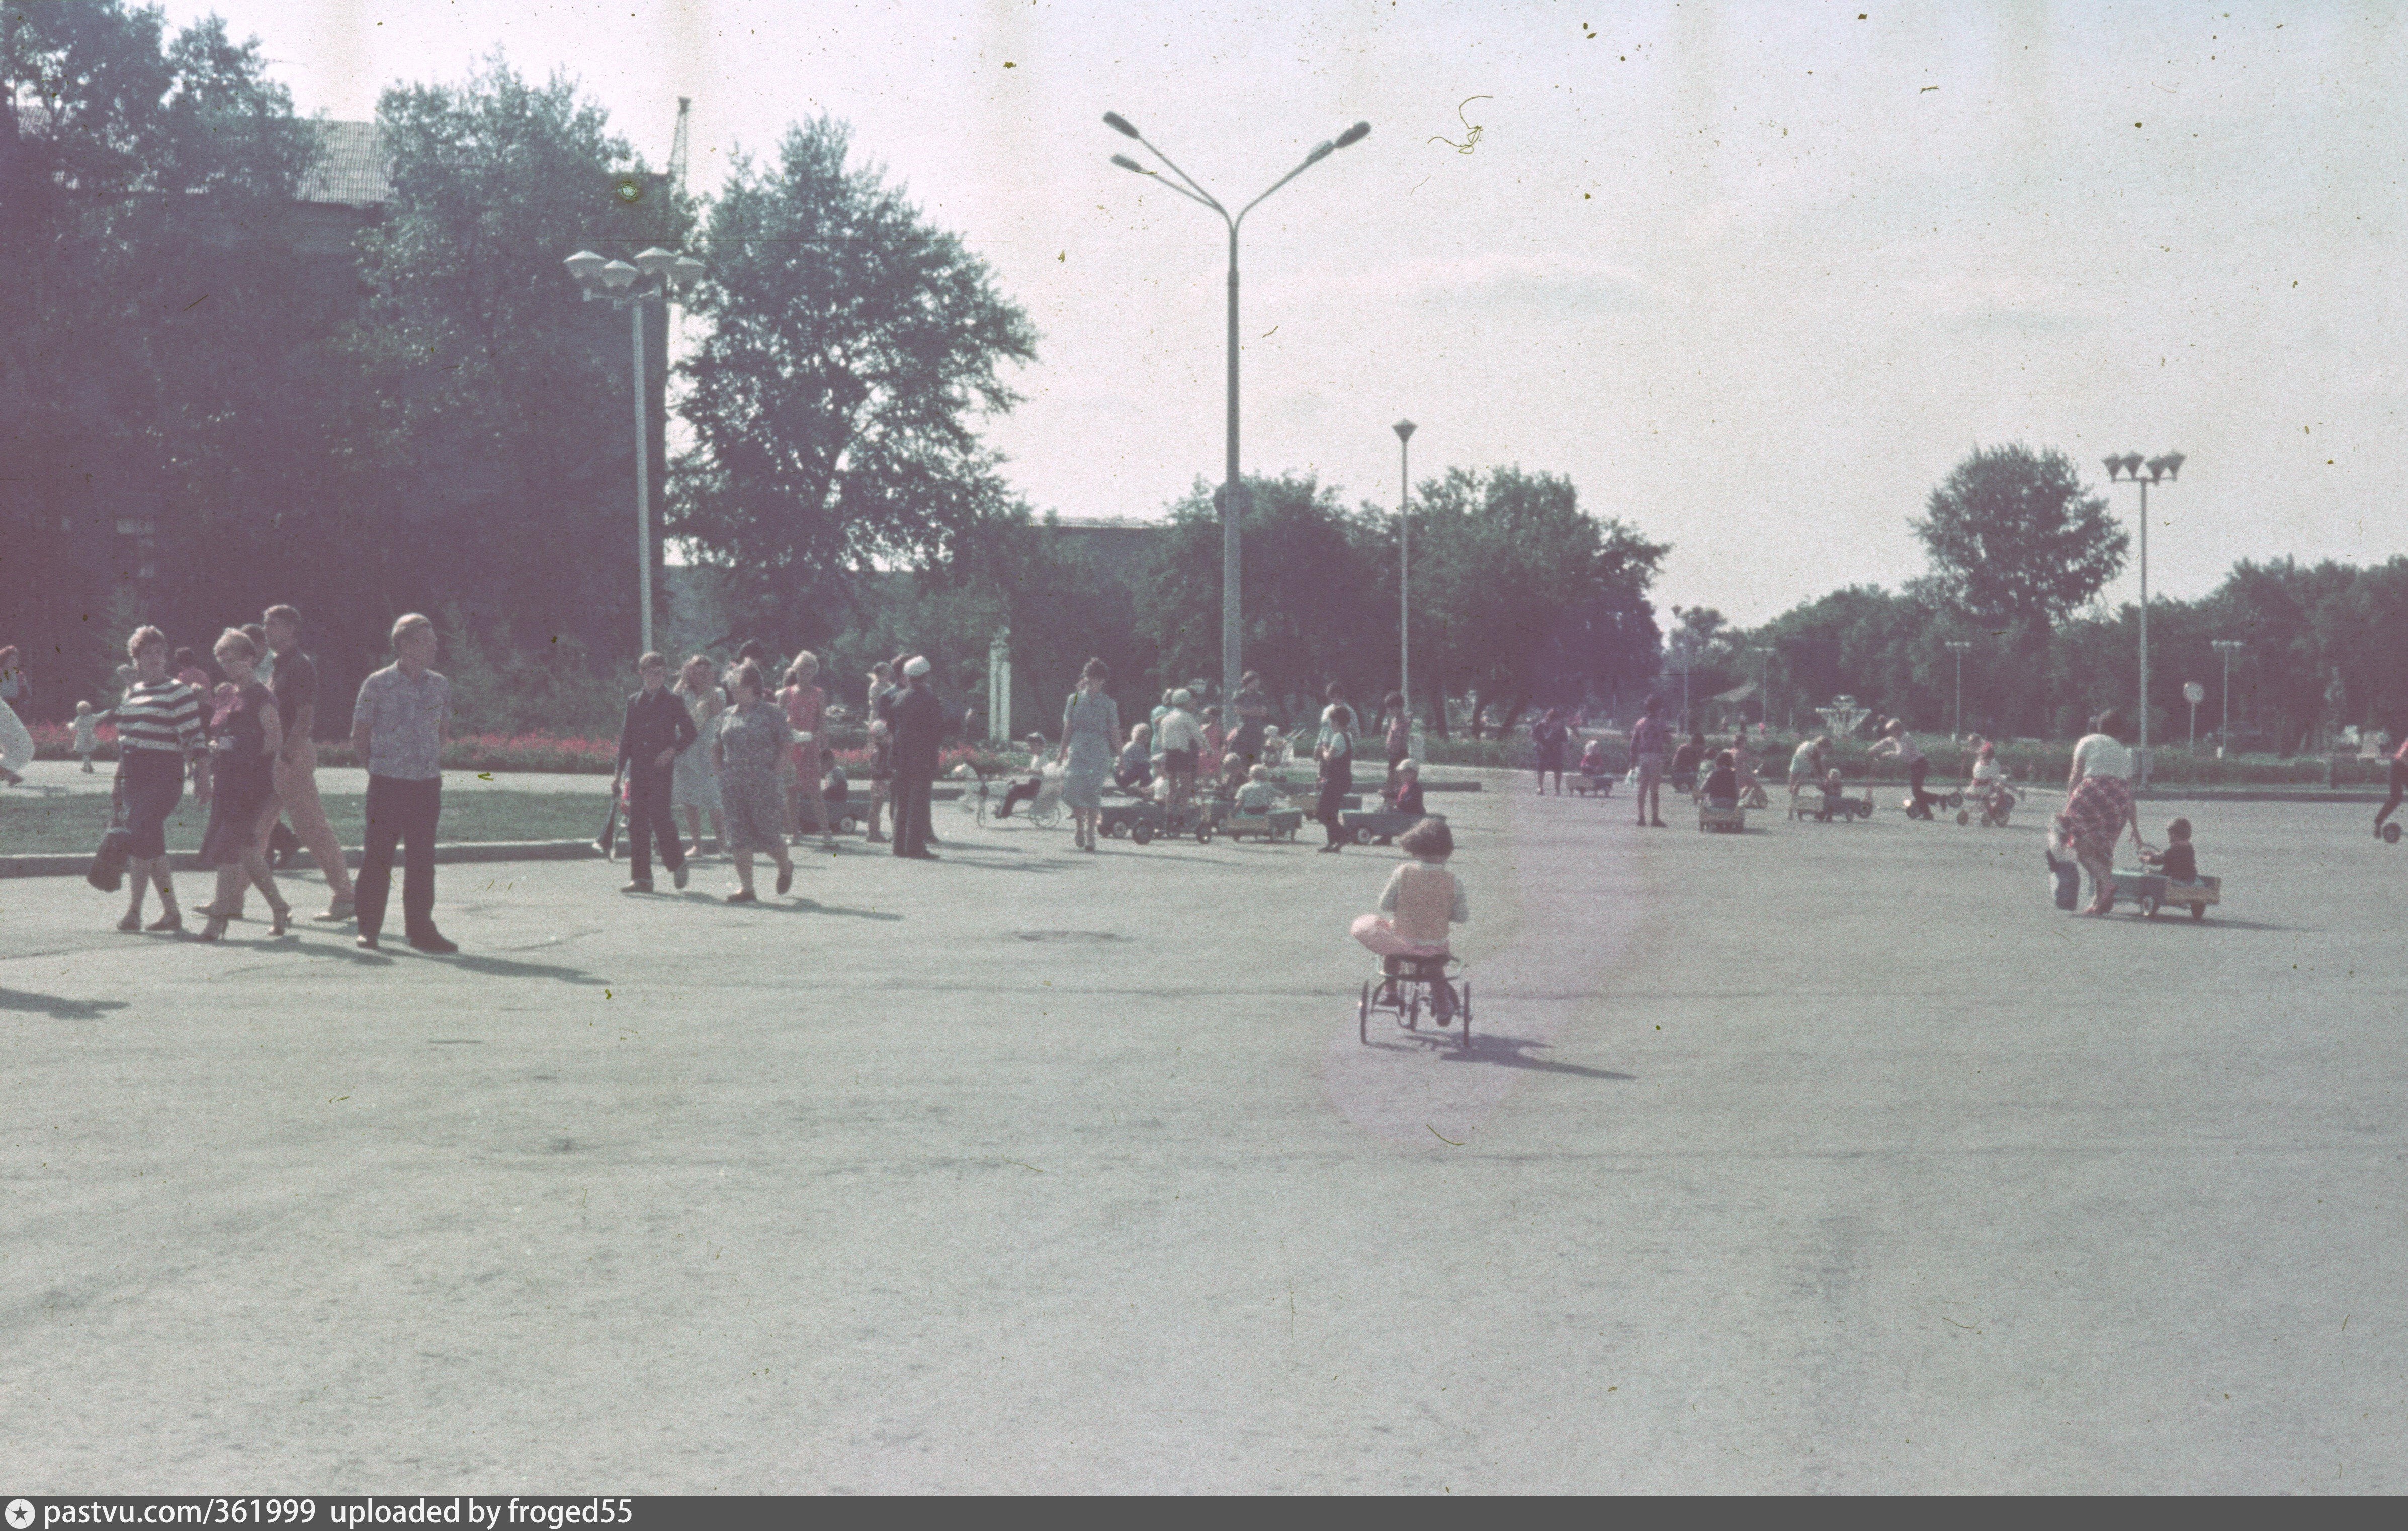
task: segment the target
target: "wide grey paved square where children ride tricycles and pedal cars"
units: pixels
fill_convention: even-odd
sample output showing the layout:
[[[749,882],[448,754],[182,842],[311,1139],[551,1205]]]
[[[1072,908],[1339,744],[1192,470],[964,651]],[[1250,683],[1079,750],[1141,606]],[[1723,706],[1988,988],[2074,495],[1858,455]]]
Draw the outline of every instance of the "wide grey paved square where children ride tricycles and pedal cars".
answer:
[[[450,960],[0,883],[12,1480],[2408,1488],[2362,809],[2146,804],[2203,924],[1888,802],[1445,809],[1471,1057],[1356,1040],[1382,850],[445,867]]]

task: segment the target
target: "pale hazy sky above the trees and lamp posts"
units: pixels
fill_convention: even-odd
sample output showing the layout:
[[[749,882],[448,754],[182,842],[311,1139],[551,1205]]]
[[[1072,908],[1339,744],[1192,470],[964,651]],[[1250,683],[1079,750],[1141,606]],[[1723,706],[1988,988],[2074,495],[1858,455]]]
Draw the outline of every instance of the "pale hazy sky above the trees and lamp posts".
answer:
[[[214,0],[303,113],[566,70],[691,185],[831,113],[1026,306],[987,426],[1038,510],[1151,518],[1223,460],[1240,205],[1247,472],[1394,508],[1522,465],[1671,542],[1741,623],[1924,571],[1975,445],[2186,455],[2150,590],[2403,551],[2408,10],[1522,0]],[[2109,491],[2131,525],[2136,491]],[[2138,571],[2109,597],[2131,599]]]

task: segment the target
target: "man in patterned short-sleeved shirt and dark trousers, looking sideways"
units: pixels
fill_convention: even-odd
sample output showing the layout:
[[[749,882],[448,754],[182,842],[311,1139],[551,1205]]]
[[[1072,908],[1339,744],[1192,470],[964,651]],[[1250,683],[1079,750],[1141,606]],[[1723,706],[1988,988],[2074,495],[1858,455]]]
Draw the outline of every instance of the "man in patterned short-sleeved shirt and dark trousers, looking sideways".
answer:
[[[436,623],[417,611],[393,623],[395,662],[359,684],[352,753],[368,763],[368,855],[359,867],[359,941],[376,951],[402,843],[402,929],[419,951],[460,951],[436,929],[436,816],[443,811],[443,729],[450,681],[431,669]]]

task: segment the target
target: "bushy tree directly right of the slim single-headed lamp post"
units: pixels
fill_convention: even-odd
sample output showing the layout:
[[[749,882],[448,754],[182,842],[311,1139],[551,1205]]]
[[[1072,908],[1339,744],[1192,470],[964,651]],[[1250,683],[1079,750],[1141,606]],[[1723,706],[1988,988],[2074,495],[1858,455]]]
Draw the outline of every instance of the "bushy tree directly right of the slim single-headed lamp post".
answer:
[[[1421,486],[1413,532],[1413,667],[1442,696],[1503,701],[1512,727],[1531,698],[1572,703],[1654,676],[1645,597],[1671,549],[1584,515],[1570,479],[1447,469]]]

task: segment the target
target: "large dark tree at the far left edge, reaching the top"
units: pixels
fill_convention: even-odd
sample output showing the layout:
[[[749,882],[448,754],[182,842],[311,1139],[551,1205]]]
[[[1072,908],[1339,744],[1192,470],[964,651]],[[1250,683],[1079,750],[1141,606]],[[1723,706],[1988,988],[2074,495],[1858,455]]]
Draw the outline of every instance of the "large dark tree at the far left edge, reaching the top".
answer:
[[[181,633],[248,595],[330,327],[291,238],[311,152],[214,17],[0,7],[0,587],[48,698],[99,691],[120,587]]]

